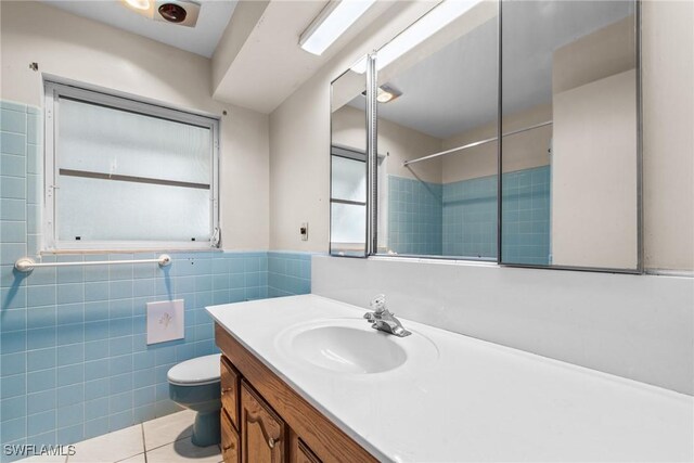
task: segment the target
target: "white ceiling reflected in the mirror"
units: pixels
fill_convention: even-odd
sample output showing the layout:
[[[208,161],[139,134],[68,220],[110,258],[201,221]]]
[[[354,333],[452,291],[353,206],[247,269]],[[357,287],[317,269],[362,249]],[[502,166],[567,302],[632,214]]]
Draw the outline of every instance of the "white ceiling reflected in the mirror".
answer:
[[[630,1],[504,3],[503,104],[513,114],[552,99],[552,52],[633,13]],[[551,21],[542,21],[550,17]],[[420,61],[388,83],[402,92],[378,117],[439,139],[497,118],[497,20]],[[361,97],[350,105],[362,108]]]

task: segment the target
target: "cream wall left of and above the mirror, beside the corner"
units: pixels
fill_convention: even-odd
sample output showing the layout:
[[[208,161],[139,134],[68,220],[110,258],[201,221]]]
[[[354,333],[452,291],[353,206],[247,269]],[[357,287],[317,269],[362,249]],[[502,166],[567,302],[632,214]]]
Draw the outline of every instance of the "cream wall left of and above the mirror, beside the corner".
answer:
[[[433,7],[394,2],[382,17],[270,115],[270,247],[327,252],[330,215],[330,83]],[[309,239],[299,226],[309,222]]]

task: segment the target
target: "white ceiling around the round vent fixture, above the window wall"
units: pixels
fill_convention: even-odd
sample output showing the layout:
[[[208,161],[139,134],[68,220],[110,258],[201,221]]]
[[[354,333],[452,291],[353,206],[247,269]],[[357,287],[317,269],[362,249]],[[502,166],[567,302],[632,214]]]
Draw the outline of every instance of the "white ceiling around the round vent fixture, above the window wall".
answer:
[[[126,8],[119,0],[42,0],[43,3],[78,16],[99,21],[171,47],[211,57],[233,14],[236,0],[196,1],[201,3],[197,25],[183,27],[149,20]]]

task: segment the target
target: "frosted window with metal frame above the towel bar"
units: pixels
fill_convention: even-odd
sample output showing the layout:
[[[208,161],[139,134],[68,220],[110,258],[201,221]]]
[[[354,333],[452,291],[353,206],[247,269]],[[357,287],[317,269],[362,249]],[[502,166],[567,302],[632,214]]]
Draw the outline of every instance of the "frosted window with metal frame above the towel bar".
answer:
[[[218,133],[217,119],[47,82],[44,247],[217,245]]]

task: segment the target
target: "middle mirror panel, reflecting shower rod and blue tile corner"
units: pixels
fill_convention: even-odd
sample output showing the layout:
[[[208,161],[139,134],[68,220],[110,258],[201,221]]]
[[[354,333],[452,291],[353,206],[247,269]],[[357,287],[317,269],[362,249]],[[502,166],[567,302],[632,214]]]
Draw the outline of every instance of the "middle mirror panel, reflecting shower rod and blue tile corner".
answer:
[[[377,253],[496,261],[498,3],[438,8],[376,53]]]

